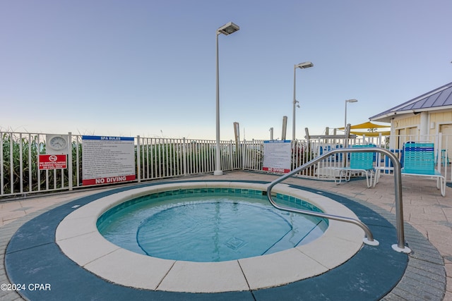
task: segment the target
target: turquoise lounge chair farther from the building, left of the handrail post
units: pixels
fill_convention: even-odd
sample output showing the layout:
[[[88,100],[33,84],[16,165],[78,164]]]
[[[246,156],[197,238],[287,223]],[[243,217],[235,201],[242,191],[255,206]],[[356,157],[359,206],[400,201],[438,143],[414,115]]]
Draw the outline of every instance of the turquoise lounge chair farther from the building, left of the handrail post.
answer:
[[[352,148],[362,148],[362,147],[375,147],[375,145],[354,145]],[[350,153],[350,167],[340,167],[335,168],[336,171],[339,171],[339,183],[337,183],[337,179],[334,178],[334,182],[336,185],[340,184],[342,178],[345,179],[346,182],[350,181],[350,177],[352,173],[364,173],[366,175],[367,180],[367,188],[375,187],[376,183],[378,183],[378,176],[374,168],[374,153],[373,152],[352,152]],[[372,183],[372,178],[374,178],[374,183]]]

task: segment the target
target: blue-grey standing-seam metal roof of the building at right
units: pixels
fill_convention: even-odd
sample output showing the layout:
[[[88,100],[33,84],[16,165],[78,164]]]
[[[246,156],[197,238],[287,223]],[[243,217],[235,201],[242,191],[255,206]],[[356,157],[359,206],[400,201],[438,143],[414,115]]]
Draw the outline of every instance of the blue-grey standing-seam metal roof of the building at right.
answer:
[[[369,119],[371,121],[390,122],[395,115],[442,109],[452,109],[452,82],[422,94],[408,102],[394,106],[392,109],[371,116]]]

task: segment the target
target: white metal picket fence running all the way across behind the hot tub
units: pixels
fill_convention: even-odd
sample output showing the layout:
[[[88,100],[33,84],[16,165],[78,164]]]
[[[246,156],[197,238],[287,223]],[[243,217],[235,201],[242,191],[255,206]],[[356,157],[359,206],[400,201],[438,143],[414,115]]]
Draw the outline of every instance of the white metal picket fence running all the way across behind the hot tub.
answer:
[[[50,135],[50,134],[49,134]],[[69,133],[67,168],[40,170],[40,154],[46,154],[46,134],[0,132],[0,197],[25,196],[30,193],[85,188],[82,185],[82,135]],[[403,143],[408,141],[434,142],[436,167],[452,180],[450,172],[452,137],[444,135],[358,137],[338,139],[295,140],[292,142],[291,169],[307,163],[328,150],[352,145],[374,145],[396,153],[402,159]],[[174,178],[215,170],[215,141],[170,138],[135,137],[136,182],[162,178]],[[263,170],[263,140],[220,142],[221,168],[232,170]],[[347,164],[347,155],[334,154],[297,176],[308,178],[332,178],[334,168]],[[376,168],[391,173],[388,158],[376,154]]]

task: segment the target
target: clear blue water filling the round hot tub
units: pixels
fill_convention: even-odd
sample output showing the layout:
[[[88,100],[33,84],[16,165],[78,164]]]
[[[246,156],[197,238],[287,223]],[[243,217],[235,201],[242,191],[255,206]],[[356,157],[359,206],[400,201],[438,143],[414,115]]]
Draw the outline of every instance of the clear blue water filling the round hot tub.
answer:
[[[319,211],[302,200],[278,202]],[[174,190],[114,207],[97,228],[127,250],[162,259],[222,262],[261,256],[319,238],[328,221],[274,209],[257,190]]]

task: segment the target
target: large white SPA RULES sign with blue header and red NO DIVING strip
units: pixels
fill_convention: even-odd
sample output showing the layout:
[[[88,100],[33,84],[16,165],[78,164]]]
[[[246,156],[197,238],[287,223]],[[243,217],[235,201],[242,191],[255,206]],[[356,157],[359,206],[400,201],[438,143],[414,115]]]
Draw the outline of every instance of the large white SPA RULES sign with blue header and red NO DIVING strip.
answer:
[[[82,184],[135,180],[133,137],[82,136]]]

